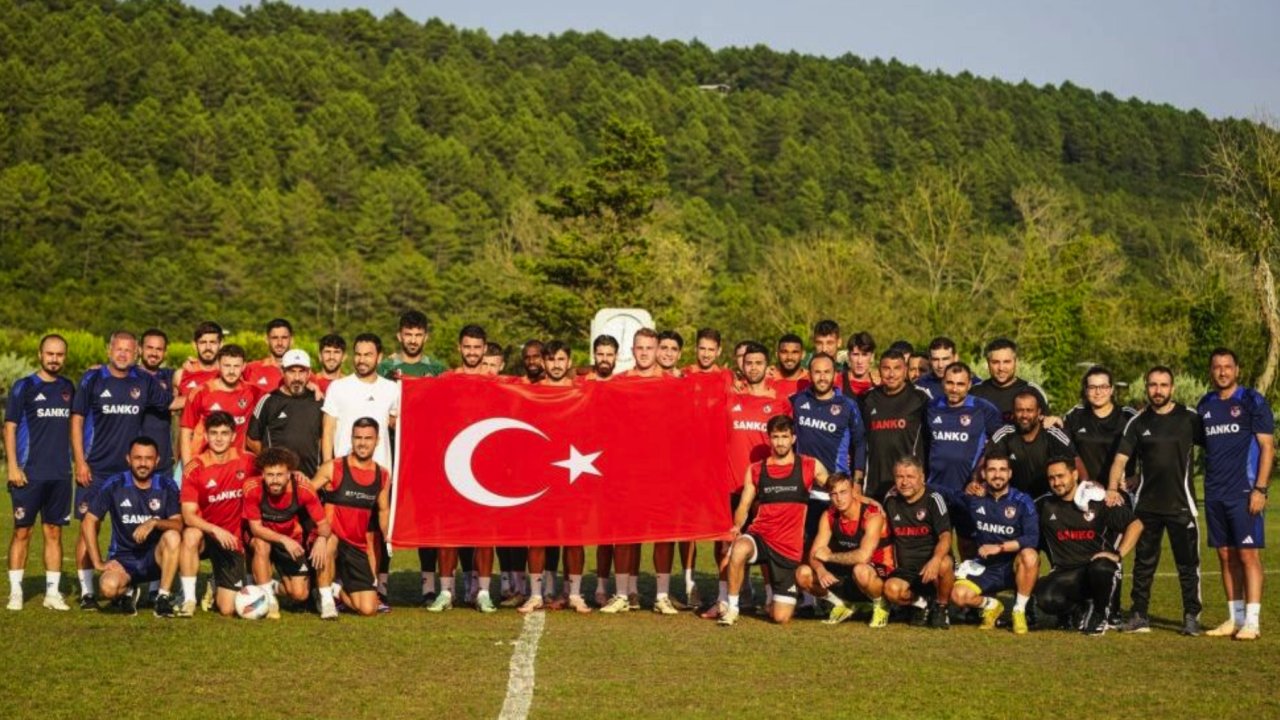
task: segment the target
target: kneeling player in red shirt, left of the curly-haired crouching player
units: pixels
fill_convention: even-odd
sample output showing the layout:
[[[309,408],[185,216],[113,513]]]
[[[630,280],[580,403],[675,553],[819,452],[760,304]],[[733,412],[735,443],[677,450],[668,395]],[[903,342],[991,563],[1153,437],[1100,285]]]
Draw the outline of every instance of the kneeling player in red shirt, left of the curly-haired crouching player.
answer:
[[[236,592],[244,584],[243,525],[244,480],[253,474],[253,456],[234,445],[236,419],[223,410],[205,419],[206,446],[183,464],[182,479],[182,574],[183,603],[175,612],[191,618],[196,611],[196,574],[200,560],[212,564],[212,605],[218,612],[236,612]],[[207,607],[206,607],[207,609]]]

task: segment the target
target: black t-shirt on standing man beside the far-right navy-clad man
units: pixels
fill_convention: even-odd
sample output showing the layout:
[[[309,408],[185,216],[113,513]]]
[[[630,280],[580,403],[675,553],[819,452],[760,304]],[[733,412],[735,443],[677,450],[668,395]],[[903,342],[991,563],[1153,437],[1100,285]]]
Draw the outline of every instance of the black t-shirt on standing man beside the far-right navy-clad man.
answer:
[[[1138,459],[1135,512],[1194,510],[1192,451],[1197,445],[1204,445],[1204,425],[1180,402],[1164,415],[1147,407],[1125,425],[1116,452]]]

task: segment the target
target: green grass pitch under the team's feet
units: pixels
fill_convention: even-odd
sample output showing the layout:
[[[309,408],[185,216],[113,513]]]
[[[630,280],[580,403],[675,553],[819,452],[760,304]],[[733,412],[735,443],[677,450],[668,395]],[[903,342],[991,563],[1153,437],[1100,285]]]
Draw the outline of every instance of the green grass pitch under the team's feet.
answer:
[[[3,516],[8,538],[9,512]],[[1272,511],[1272,542],[1280,538],[1276,518]],[[68,591],[72,543],[64,546]],[[1270,577],[1280,578],[1271,552],[1265,555]],[[716,593],[710,557],[709,546],[700,548],[704,597]],[[443,615],[411,607],[416,562],[412,552],[394,557],[397,607],[374,619],[321,623],[285,612],[278,623],[209,614],[161,620],[148,611],[127,618],[44,610],[36,541],[24,610],[0,611],[9,647],[0,717],[498,716],[524,618],[513,610],[483,616],[462,607]],[[1203,571],[1203,621],[1212,626],[1226,615],[1216,557],[1206,553]],[[548,612],[530,715],[1280,717],[1274,679],[1280,589],[1270,588],[1263,605],[1261,641],[1183,638],[1174,629],[1181,610],[1167,550],[1160,573],[1157,628],[1148,635],[1085,638],[1046,629],[1015,638],[974,626],[905,625],[873,632],[861,621],[780,628],[755,618],[719,628],[690,614],[663,618],[648,610]],[[594,577],[585,584],[590,593]],[[645,577],[641,593],[652,589]]]

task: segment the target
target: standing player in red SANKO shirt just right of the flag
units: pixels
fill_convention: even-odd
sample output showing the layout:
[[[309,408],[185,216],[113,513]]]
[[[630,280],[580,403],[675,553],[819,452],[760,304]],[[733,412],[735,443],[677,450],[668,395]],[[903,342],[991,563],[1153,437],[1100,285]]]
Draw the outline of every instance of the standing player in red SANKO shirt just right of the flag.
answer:
[[[728,397],[728,503],[731,511],[737,511],[742,497],[742,480],[754,462],[769,457],[769,418],[786,414],[790,404],[778,395],[768,382],[769,350],[759,342],[748,342],[742,354],[742,377],[745,384],[741,392]],[[803,538],[801,538],[803,541]],[[716,564],[721,568],[719,594],[716,605],[708,607],[701,616],[709,620],[721,618],[728,610],[728,573],[724,557],[731,543],[716,542]],[[767,598],[773,591],[767,588]]]

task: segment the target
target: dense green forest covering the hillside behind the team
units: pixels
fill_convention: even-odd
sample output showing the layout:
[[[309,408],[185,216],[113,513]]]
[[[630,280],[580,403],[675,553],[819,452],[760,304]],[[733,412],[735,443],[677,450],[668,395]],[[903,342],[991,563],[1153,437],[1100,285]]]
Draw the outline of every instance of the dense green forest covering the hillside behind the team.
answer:
[[[727,86],[727,91],[700,86]],[[1266,347],[1198,224],[1244,120],[890,60],[489,37],[265,3],[0,0],[0,328],[428,313],[585,347],[600,305],[691,336],[819,316],[1201,372]],[[0,341],[0,351],[4,348]]]

